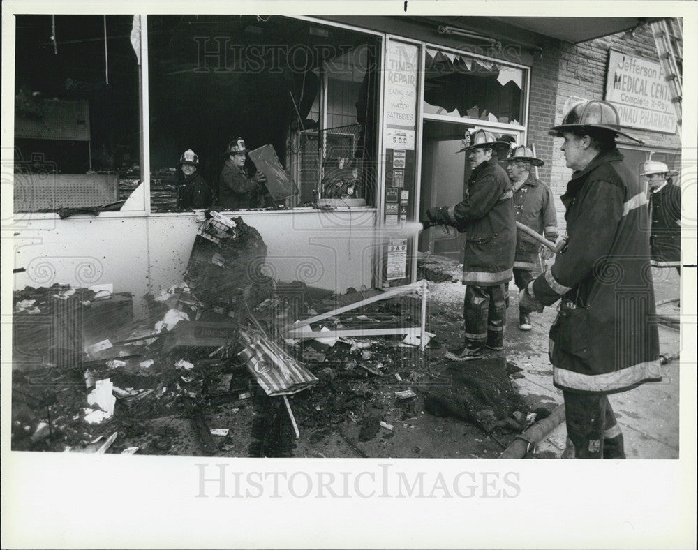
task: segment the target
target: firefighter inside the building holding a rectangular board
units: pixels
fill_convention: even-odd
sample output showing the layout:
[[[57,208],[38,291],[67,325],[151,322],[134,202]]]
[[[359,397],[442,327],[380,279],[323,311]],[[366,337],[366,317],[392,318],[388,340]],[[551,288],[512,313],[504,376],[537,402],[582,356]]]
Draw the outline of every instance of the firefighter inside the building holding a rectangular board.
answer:
[[[245,147],[242,137],[238,137],[228,144],[221,175],[218,177],[218,202],[228,210],[242,208],[255,208],[264,206],[266,188],[262,184],[267,177],[262,172],[257,172],[249,177],[245,169],[246,154],[249,149]]]

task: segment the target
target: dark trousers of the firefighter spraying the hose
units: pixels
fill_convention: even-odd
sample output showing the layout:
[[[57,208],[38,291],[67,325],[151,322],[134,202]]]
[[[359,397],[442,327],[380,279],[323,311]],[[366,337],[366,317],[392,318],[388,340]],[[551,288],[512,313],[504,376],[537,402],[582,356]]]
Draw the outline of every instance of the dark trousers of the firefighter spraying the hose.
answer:
[[[504,345],[507,324],[507,285],[466,286],[463,319],[466,325],[466,345],[487,345],[500,350]]]

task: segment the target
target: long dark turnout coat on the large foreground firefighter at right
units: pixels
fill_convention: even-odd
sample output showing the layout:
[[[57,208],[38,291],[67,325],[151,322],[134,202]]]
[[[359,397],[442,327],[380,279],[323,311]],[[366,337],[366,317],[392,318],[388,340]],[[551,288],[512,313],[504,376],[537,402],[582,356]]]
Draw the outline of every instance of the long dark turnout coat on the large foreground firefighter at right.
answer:
[[[661,380],[647,194],[617,149],[574,172],[562,196],[569,241],[533,281],[549,306],[556,387],[609,394]]]

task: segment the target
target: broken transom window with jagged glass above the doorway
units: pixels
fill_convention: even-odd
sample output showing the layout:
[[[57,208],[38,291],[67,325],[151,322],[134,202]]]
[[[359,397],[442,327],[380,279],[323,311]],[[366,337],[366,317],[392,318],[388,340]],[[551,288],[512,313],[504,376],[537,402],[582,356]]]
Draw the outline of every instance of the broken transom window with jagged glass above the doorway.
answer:
[[[424,70],[424,114],[521,126],[523,69],[428,47]]]

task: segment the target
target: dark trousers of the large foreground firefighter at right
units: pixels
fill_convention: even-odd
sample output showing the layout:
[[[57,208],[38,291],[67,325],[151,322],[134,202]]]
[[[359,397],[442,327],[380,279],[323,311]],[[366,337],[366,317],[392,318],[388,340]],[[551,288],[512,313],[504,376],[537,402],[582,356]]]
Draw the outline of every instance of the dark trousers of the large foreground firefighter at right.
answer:
[[[625,459],[623,433],[607,396],[563,392],[567,448],[563,459]]]

